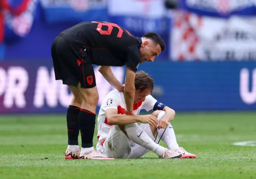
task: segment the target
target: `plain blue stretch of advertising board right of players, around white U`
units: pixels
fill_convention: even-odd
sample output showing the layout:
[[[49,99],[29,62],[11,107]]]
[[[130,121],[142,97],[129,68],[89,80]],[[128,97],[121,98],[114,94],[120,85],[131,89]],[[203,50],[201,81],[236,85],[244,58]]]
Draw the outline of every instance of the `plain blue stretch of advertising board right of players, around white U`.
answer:
[[[243,110],[256,109],[240,95],[240,71],[248,69],[249,90],[252,89],[254,62],[161,62],[143,64],[140,70],[152,75],[155,85],[162,86],[164,95],[157,99],[175,110]],[[256,74],[254,76],[256,85]],[[246,94],[244,94],[246,95]]]

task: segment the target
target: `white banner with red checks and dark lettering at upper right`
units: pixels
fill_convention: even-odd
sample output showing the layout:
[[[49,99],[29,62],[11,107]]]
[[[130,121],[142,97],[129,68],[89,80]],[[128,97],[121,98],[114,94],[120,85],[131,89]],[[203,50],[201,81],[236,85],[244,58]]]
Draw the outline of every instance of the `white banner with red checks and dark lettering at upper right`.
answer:
[[[173,61],[255,61],[256,17],[215,18],[174,13],[170,38]]]

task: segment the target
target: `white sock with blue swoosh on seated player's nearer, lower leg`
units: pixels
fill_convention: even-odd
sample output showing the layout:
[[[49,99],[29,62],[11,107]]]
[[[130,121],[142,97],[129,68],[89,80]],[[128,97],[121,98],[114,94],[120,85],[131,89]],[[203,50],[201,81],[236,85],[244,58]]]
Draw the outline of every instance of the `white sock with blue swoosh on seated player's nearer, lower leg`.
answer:
[[[143,131],[137,123],[128,124],[124,127],[128,137],[134,141],[135,143],[150,149],[151,151],[155,152],[158,156],[162,157],[164,155],[165,148],[160,146]]]

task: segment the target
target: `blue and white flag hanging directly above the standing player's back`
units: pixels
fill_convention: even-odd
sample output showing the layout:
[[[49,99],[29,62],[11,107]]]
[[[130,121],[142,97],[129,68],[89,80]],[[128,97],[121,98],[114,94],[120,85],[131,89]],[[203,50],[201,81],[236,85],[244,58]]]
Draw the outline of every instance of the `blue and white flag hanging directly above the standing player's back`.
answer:
[[[107,0],[40,0],[40,4],[49,24],[109,21]]]

